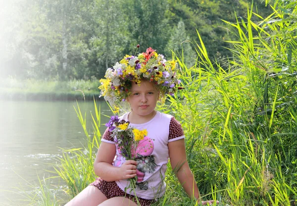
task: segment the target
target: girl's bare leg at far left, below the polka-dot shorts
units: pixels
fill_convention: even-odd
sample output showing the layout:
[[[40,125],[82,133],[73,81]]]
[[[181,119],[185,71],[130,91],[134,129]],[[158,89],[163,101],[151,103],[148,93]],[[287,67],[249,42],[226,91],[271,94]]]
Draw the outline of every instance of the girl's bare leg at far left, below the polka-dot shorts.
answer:
[[[105,195],[95,186],[88,186],[65,206],[98,206],[106,201]]]

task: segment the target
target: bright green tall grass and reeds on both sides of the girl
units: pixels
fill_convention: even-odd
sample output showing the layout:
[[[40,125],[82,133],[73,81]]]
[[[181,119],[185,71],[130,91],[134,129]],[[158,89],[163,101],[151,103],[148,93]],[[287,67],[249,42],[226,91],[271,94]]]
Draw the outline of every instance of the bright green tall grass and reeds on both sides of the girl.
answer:
[[[296,4],[276,1],[265,19],[247,10],[245,20],[226,22],[238,36],[228,41],[232,58],[211,62],[201,39],[195,66],[188,68],[182,57],[175,57],[184,90],[168,97],[170,106],[158,109],[181,122],[200,193],[204,199],[219,200],[220,206],[296,205]],[[257,22],[251,21],[253,16]],[[70,154],[59,159],[57,169],[70,197],[94,180],[92,165],[100,139],[99,111],[92,138],[85,117],[77,113],[88,144],[66,150]],[[176,184],[169,164],[166,182],[166,194],[155,205],[197,205]]]

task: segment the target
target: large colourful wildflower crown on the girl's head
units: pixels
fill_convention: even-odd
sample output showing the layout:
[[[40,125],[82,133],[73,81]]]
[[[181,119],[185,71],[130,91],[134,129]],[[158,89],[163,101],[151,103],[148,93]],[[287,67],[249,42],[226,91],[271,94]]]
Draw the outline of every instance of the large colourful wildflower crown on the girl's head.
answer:
[[[130,95],[132,82],[140,84],[142,79],[158,85],[161,95],[173,95],[181,82],[177,70],[176,60],[167,61],[151,48],[138,56],[126,55],[120,63],[116,62],[113,68],[106,70],[106,79],[100,79],[100,97],[117,106]]]

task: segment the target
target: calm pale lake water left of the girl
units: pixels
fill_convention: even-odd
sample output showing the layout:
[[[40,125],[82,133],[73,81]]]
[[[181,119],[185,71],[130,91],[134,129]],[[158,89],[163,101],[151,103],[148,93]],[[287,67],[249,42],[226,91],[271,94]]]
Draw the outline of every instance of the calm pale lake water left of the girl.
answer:
[[[100,102],[101,113],[110,115],[108,105]],[[33,191],[38,177],[56,176],[54,157],[60,148],[81,147],[86,137],[74,110],[76,102],[13,102],[0,101],[0,205],[28,205],[17,188]],[[92,132],[94,102],[79,102],[81,111],[87,111],[87,128]],[[99,102],[97,103],[99,108]],[[108,118],[101,115],[101,124]],[[105,126],[100,127],[101,134]],[[92,134],[91,134],[92,135]],[[67,199],[60,189],[65,185],[58,178],[48,181],[59,198]],[[30,184],[32,184],[30,186]],[[16,193],[14,193],[16,192]],[[67,200],[66,200],[67,201]],[[65,201],[65,202],[66,202]]]

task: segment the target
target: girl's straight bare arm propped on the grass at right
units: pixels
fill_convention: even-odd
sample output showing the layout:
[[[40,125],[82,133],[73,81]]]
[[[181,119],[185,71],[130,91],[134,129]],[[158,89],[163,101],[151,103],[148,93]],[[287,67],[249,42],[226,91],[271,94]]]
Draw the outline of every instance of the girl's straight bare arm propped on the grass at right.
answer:
[[[189,197],[192,199],[195,198],[202,205],[211,205],[214,201],[200,200],[199,190],[193,173],[188,164],[185,140],[181,139],[169,142],[168,149],[172,170],[174,171],[177,179],[179,180]]]

